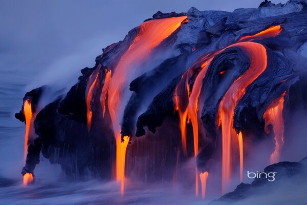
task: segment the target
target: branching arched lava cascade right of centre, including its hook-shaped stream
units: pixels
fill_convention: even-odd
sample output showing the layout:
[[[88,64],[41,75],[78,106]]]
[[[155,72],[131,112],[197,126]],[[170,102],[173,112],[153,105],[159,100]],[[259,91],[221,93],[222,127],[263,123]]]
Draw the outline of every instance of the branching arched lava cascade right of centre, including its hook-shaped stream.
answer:
[[[247,86],[249,86],[267,67],[267,54],[266,54],[266,48],[258,43],[251,42],[255,39],[261,39],[261,38],[267,38],[267,37],[275,37],[280,34],[281,27],[278,26],[272,26],[264,31],[261,31],[255,35],[251,36],[245,36],[239,39],[238,43],[232,44],[224,49],[213,51],[209,54],[205,54],[201,56],[196,63],[194,63],[189,70],[196,68],[200,68],[201,71],[196,76],[195,82],[193,84],[193,88],[189,88],[188,83],[183,83],[182,81],[186,80],[185,75],[187,75],[188,72],[185,72],[182,76],[182,79],[180,83],[177,86],[177,89],[179,88],[179,85],[187,85],[186,90],[190,93],[189,99],[188,99],[188,108],[180,107],[180,103],[178,101],[182,99],[179,98],[179,94],[176,92],[174,96],[174,104],[176,106],[176,109],[179,111],[179,115],[182,115],[182,113],[185,113],[188,109],[188,117],[190,117],[192,128],[193,128],[193,138],[194,138],[194,155],[196,156],[198,154],[198,144],[199,144],[199,125],[198,125],[198,104],[199,104],[199,96],[202,90],[202,84],[203,79],[205,78],[206,72],[208,67],[210,66],[210,63],[213,59],[213,57],[221,52],[223,52],[225,49],[231,48],[231,47],[239,47],[242,49],[245,53],[248,54],[248,56],[251,59],[251,66],[243,75],[239,76],[234,83],[230,86],[230,88],[227,90],[225,96],[223,97],[220,106],[218,108],[218,122],[222,126],[222,192],[225,193],[227,190],[227,186],[229,184],[229,180],[231,177],[231,157],[232,157],[232,144],[231,141],[236,141],[238,144],[238,150],[239,150],[239,160],[240,160],[240,180],[243,180],[243,135],[240,132],[239,134],[236,133],[236,131],[233,128],[233,115],[234,115],[234,109],[238,103],[238,100],[242,98],[245,94],[245,89]],[[222,74],[224,74],[226,71],[223,71]],[[184,90],[181,88],[181,90]],[[180,110],[181,109],[181,110]],[[180,127],[182,127],[182,123],[184,118],[180,118]],[[182,137],[183,138],[183,137]],[[196,196],[198,195],[198,171],[196,169],[195,173],[195,191]]]

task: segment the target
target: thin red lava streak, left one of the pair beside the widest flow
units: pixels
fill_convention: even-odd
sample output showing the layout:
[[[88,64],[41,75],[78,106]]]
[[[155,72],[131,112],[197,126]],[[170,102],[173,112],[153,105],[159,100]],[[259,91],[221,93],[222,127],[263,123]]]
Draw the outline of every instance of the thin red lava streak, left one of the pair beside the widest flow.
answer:
[[[95,71],[94,71],[95,72]],[[89,78],[89,83],[87,84],[87,92],[86,92],[86,108],[87,108],[87,129],[90,131],[91,130],[91,126],[92,126],[92,116],[93,116],[93,111],[92,111],[92,99],[93,99],[93,90],[94,87],[96,86],[97,83],[97,78],[99,75],[99,68],[97,68],[97,74],[95,79],[92,81],[93,78],[93,74],[94,72],[91,74],[90,78]]]

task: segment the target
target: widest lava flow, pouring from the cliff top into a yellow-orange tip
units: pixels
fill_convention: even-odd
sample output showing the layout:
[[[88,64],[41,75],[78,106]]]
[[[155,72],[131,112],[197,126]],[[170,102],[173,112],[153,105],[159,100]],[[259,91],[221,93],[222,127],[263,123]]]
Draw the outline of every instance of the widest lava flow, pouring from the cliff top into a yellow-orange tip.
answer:
[[[184,19],[186,19],[186,16],[153,19],[144,22],[139,27],[139,33],[133,43],[122,55],[111,77],[107,105],[117,141],[116,178],[117,180],[122,180],[122,186],[125,172],[125,157],[122,157],[122,155],[125,155],[129,139],[129,137],[124,137],[122,142],[120,133],[120,120],[126,105],[124,100],[129,97],[127,95],[123,96],[124,93],[129,93],[124,92],[124,90],[127,89],[132,79],[144,72],[140,70],[137,64],[144,62],[155,47],[181,26]],[[121,154],[119,155],[119,153]],[[124,189],[122,188],[122,193],[123,191]]]

